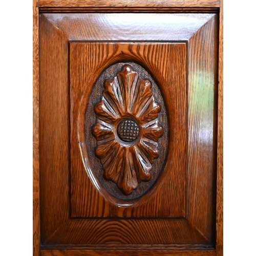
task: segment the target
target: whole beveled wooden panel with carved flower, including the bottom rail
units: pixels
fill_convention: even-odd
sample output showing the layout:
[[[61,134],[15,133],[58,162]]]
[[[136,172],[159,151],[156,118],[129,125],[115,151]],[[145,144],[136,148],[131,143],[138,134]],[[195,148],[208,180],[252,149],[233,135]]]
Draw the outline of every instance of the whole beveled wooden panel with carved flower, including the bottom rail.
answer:
[[[41,255],[215,255],[217,90],[215,13],[41,13]]]

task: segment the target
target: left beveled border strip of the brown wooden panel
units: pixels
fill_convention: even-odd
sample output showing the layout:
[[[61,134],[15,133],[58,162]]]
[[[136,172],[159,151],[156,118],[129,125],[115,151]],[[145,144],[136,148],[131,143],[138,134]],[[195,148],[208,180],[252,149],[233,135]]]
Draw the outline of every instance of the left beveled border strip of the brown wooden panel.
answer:
[[[44,240],[69,218],[70,131],[67,37],[44,17],[40,22],[44,24],[39,31],[40,213]]]

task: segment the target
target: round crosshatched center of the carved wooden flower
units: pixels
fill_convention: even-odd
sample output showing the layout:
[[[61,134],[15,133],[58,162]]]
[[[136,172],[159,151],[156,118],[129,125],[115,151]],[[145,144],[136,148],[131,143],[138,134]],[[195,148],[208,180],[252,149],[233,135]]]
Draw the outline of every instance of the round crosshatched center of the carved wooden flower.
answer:
[[[117,134],[122,141],[134,141],[139,136],[139,127],[131,119],[125,119],[119,123]]]

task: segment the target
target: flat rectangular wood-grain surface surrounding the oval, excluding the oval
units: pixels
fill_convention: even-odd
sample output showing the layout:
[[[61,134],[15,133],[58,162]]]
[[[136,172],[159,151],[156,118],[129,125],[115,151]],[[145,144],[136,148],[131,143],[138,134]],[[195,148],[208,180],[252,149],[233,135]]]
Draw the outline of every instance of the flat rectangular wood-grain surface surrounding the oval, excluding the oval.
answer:
[[[94,58],[89,58],[92,54]],[[166,58],[162,58],[163,55]],[[165,168],[153,188],[141,199],[133,201],[131,207],[120,208],[105,200],[104,197],[108,199],[108,193],[101,189],[102,197],[86,174],[77,143],[84,143],[84,133],[78,137],[76,127],[79,113],[77,102],[81,102],[81,109],[86,110],[97,77],[111,63],[123,60],[140,63],[154,76],[168,113],[170,150]],[[72,217],[185,217],[186,45],[72,43],[70,61]],[[77,74],[77,70],[82,72]],[[81,116],[85,116],[85,113],[82,112]],[[89,156],[85,158],[90,159]]]

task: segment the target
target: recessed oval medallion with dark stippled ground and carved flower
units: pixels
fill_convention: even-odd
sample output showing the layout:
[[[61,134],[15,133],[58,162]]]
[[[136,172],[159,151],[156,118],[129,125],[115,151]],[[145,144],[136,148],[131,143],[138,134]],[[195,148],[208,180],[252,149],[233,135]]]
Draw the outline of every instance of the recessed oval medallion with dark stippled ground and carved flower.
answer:
[[[165,106],[152,77],[133,62],[106,69],[85,120],[93,175],[103,188],[122,200],[146,193],[161,172],[168,141]]]

